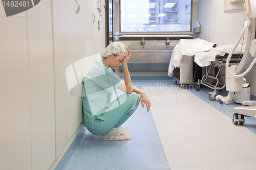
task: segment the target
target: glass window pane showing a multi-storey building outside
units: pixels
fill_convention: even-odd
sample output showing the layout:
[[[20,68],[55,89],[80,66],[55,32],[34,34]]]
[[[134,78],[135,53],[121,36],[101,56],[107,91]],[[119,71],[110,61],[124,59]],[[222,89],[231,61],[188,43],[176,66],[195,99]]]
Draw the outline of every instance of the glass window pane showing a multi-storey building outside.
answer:
[[[191,0],[120,0],[120,32],[190,31]]]

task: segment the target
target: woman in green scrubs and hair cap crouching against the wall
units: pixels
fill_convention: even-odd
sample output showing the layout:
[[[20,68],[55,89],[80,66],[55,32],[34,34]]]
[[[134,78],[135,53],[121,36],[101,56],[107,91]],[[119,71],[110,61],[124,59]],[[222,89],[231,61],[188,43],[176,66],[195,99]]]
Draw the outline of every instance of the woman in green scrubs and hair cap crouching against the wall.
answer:
[[[101,53],[101,58],[83,78],[83,125],[92,134],[102,135],[101,140],[131,139],[127,129],[120,126],[134,113],[140,101],[147,111],[151,103],[144,91],[132,85],[127,68],[131,54],[124,44],[111,43]],[[125,82],[112,70],[120,65],[124,68]],[[116,88],[124,93],[111,102]]]

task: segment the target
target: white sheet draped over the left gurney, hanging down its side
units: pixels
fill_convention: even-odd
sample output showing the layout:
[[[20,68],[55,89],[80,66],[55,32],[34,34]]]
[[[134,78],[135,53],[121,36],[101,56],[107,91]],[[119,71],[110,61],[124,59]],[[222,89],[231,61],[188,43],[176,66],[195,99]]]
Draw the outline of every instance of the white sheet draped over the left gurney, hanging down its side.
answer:
[[[205,41],[203,39],[180,39],[179,44],[174,47],[172,57],[168,69],[168,76],[173,76],[175,67],[180,67],[182,55],[194,56],[198,53],[211,50],[214,43]]]

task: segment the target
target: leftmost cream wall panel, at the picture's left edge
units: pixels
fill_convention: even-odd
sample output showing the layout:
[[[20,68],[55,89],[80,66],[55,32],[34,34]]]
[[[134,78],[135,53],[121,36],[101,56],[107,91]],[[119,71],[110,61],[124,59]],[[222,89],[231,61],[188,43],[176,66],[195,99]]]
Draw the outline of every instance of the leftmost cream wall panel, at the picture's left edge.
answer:
[[[28,170],[31,131],[26,12],[4,17],[0,5],[0,16],[0,169]]]

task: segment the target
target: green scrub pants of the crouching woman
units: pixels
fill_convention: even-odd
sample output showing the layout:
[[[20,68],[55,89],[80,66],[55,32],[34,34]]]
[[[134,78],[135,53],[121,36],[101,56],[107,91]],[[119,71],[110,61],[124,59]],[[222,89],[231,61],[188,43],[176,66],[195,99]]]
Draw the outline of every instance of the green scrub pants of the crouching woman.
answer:
[[[90,129],[94,135],[104,135],[110,137],[109,131],[121,126],[137,109],[140,98],[136,93],[123,93],[111,102],[111,106],[101,114],[101,119],[95,119],[95,129]]]

